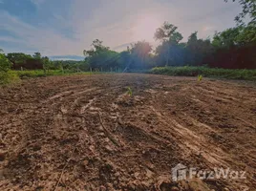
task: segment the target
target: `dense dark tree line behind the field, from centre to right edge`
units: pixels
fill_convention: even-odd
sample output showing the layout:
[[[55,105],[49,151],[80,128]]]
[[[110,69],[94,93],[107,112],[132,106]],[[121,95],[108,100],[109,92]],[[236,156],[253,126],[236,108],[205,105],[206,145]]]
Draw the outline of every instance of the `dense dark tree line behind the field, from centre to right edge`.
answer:
[[[93,69],[150,69],[162,66],[208,66],[226,69],[256,69],[256,26],[238,26],[216,32],[212,39],[201,39],[192,32],[187,41],[178,27],[164,22],[155,39],[160,45],[153,50],[149,42],[139,41],[117,53],[96,39],[92,49],[84,51],[85,61]]]

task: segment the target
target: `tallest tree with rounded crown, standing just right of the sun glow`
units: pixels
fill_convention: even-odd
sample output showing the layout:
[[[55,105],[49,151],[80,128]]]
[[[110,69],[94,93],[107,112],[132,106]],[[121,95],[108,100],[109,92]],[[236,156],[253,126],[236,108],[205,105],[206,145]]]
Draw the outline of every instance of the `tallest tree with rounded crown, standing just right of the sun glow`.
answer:
[[[166,58],[167,66],[169,65],[170,52],[175,52],[175,47],[179,45],[180,41],[183,38],[181,33],[177,32],[177,29],[178,28],[176,26],[168,22],[164,22],[163,25],[155,32],[155,39],[160,40],[162,43],[159,51],[161,50],[161,53],[165,51],[164,55]]]

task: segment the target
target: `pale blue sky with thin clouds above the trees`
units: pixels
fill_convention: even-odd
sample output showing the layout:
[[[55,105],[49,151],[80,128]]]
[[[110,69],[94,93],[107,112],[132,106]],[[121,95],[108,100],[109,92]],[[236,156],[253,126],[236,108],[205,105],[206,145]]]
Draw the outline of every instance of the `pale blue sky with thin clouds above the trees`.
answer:
[[[212,37],[235,27],[241,11],[224,0],[0,0],[0,48],[5,53],[40,52],[53,58],[79,59],[93,40],[120,52],[146,40],[164,21]]]

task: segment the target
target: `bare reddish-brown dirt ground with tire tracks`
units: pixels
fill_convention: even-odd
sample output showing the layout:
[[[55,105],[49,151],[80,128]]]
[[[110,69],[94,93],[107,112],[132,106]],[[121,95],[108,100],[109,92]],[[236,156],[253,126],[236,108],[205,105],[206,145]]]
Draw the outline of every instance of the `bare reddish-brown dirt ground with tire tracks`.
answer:
[[[252,82],[51,76],[0,88],[0,109],[1,191],[256,190]],[[175,181],[179,163],[246,179]]]

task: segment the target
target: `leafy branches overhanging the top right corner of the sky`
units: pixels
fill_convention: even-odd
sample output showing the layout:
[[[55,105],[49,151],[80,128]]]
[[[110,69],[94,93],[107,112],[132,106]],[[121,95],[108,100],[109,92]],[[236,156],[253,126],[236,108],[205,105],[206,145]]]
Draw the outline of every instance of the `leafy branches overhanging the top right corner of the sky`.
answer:
[[[227,2],[228,0],[224,0]],[[238,1],[243,7],[243,11],[235,18],[238,24],[243,25],[245,16],[248,15],[251,19],[250,24],[256,25],[256,0],[232,0]]]

